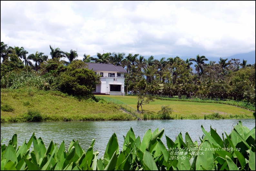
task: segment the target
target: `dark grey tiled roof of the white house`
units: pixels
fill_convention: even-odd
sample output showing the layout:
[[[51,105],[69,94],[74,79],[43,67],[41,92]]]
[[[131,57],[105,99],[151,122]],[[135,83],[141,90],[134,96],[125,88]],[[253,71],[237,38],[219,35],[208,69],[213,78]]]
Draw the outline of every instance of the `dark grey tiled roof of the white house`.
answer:
[[[108,63],[88,63],[88,69],[93,71],[115,71],[115,72],[124,72],[126,73],[127,71],[123,69],[122,66],[116,66],[113,64],[108,64]]]

